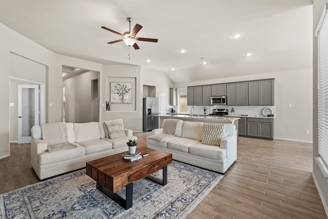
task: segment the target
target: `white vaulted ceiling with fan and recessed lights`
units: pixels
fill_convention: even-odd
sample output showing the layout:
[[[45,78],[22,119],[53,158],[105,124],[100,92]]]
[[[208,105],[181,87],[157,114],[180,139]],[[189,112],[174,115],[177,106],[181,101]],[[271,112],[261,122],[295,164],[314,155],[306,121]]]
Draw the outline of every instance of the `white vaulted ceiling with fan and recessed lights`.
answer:
[[[107,44],[121,36],[100,27],[124,33],[127,17],[158,43]],[[145,66],[173,83],[312,67],[312,0],[0,0],[0,23],[58,54]]]

